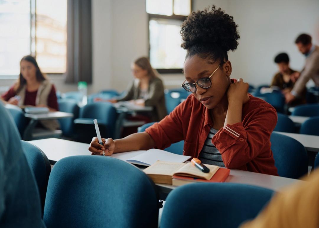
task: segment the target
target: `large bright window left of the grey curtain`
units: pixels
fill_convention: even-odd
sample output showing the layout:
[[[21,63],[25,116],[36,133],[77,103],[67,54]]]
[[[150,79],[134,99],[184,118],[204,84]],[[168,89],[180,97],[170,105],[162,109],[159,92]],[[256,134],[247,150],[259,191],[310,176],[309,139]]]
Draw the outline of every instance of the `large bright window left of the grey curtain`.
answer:
[[[0,75],[18,75],[25,55],[44,73],[66,71],[65,0],[0,0]]]

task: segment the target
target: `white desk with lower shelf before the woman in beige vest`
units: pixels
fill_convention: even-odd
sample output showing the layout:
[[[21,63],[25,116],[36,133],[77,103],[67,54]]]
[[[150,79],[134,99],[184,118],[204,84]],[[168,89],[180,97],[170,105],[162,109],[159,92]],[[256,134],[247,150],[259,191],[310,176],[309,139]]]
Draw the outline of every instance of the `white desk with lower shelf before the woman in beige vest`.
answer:
[[[26,129],[23,133],[23,140],[31,140],[37,136],[48,136],[48,137],[55,137],[56,135],[61,135],[61,130],[45,130],[45,131],[38,131],[33,134],[34,128],[39,120],[56,120],[62,118],[72,118],[72,113],[65,113],[65,112],[48,112],[46,114],[29,114],[25,113],[25,117],[30,118],[30,122],[26,126]]]

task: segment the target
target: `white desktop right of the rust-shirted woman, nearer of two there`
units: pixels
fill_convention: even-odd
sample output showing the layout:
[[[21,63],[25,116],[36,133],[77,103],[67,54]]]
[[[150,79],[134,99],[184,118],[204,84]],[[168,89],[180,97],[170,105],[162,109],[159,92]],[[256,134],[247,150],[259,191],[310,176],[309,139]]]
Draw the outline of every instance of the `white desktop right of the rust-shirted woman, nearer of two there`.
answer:
[[[319,151],[319,136],[286,133],[286,132],[279,132],[279,131],[275,131],[275,132],[296,139],[306,148],[307,151],[311,151],[311,152]]]

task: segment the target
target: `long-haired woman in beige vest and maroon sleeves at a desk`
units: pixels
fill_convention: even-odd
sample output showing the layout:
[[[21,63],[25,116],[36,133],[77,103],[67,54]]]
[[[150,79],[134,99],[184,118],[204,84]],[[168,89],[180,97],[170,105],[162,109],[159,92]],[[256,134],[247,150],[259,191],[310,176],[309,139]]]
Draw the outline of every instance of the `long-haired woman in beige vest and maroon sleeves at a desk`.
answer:
[[[48,107],[50,111],[58,111],[56,89],[47,77],[41,73],[36,60],[24,56],[20,61],[20,75],[18,81],[2,95],[5,103],[18,106]],[[57,129],[56,120],[41,121],[48,129]]]

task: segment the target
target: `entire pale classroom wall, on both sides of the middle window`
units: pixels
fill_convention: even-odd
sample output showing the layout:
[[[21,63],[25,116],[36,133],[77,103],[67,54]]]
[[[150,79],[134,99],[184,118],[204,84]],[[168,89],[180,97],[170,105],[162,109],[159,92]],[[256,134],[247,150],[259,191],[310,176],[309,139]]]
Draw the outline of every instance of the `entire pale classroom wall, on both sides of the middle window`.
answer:
[[[274,56],[286,51],[291,67],[301,70],[304,57],[294,45],[301,32],[313,36],[319,44],[318,0],[193,0],[193,10],[215,4],[234,16],[241,39],[238,49],[229,53],[233,78],[258,85],[270,83],[277,71]],[[148,55],[148,17],[145,0],[92,0],[93,83],[88,92],[114,88],[124,90],[132,80],[130,64]],[[167,88],[178,87],[182,74],[161,75]],[[63,76],[52,75],[58,90],[76,90],[64,83]],[[14,80],[1,80],[9,86]]]

